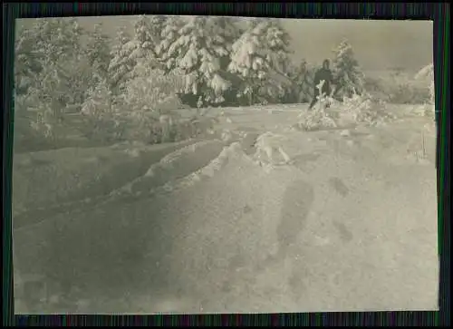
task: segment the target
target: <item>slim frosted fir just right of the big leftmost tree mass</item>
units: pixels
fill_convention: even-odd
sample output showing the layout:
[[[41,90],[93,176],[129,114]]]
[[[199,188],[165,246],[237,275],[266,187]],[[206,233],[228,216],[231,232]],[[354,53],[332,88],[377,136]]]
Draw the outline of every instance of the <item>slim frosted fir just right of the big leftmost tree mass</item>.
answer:
[[[111,62],[111,46],[109,36],[102,32],[102,24],[94,25],[94,30],[89,34],[84,53],[88,64],[92,67],[96,82],[107,78],[109,63]]]

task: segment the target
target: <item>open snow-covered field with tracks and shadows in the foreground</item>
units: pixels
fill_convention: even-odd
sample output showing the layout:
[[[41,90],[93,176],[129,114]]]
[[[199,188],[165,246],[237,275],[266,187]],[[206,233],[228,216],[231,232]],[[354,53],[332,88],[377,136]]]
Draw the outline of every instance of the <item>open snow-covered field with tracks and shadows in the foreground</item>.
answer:
[[[15,155],[16,313],[437,309],[433,120],[294,130],[305,110]]]

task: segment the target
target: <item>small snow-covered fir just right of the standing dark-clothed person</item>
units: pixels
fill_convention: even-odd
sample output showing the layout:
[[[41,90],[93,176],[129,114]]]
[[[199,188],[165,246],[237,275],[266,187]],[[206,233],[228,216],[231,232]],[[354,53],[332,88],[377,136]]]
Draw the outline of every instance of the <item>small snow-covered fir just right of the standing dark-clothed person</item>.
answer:
[[[364,91],[363,73],[351,44],[344,40],[333,53],[333,76],[337,82],[335,97],[351,97],[354,92],[361,94]]]

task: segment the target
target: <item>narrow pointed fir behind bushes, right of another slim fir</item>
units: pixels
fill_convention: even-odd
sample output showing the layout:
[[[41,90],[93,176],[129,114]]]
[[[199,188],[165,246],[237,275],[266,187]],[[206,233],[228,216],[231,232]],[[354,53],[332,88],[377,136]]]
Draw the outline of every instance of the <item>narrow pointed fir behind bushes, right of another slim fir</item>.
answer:
[[[111,63],[108,68],[111,90],[115,94],[124,91],[124,83],[130,79],[131,72],[136,64],[133,57],[135,47],[130,41],[131,38],[126,28],[120,26],[111,50]]]

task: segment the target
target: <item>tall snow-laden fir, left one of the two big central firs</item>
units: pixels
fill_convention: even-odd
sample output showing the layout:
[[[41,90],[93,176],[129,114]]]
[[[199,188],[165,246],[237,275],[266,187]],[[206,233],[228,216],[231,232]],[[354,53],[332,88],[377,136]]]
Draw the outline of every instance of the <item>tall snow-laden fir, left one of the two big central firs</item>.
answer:
[[[160,48],[160,58],[166,68],[185,75],[181,92],[202,96],[207,103],[223,102],[223,93],[230,87],[221,67],[229,55],[229,36],[218,22],[219,19],[212,16],[188,17],[176,34],[176,40],[170,42],[171,39],[166,38]]]

